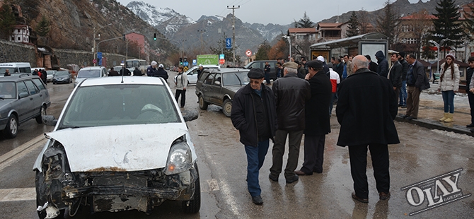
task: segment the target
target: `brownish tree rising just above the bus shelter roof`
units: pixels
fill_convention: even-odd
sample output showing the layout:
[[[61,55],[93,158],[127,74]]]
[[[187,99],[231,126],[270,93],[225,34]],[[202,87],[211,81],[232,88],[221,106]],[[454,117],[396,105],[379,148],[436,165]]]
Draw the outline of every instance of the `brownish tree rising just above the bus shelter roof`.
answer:
[[[399,25],[398,13],[395,12],[393,4],[386,1],[383,12],[377,18],[376,31],[388,37],[389,48],[392,48],[398,42]]]

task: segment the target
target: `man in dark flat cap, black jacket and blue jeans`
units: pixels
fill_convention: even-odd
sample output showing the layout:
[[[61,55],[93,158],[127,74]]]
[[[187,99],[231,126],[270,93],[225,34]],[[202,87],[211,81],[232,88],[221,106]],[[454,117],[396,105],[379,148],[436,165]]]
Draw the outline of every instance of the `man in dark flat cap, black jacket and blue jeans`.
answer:
[[[250,83],[233,97],[231,120],[241,135],[247,153],[247,187],[253,203],[263,203],[258,172],[267,155],[269,139],[277,130],[277,112],[272,89],[263,84],[262,69],[250,69]]]

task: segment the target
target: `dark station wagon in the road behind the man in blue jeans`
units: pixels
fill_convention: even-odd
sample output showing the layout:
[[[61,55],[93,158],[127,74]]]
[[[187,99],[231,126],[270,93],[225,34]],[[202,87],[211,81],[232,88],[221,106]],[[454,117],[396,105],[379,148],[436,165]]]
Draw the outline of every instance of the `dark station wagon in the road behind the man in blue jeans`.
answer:
[[[209,104],[222,107],[226,117],[231,117],[232,100],[236,92],[247,85],[247,69],[207,69],[196,83],[196,95],[200,109]]]

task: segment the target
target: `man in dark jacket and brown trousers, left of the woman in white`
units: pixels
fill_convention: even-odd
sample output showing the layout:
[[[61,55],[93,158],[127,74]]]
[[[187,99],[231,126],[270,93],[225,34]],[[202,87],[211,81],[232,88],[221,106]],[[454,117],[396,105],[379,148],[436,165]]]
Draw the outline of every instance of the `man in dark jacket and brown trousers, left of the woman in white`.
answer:
[[[423,64],[417,61],[414,54],[407,54],[407,113],[405,119],[417,119],[420,106],[420,93],[429,88],[427,74],[424,73]]]

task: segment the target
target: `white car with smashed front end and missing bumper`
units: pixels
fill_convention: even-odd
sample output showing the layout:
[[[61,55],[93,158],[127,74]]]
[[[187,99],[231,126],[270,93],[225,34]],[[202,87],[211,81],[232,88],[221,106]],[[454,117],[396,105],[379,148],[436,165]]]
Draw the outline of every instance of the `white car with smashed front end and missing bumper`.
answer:
[[[166,200],[200,210],[196,153],[183,114],[162,78],[85,80],[71,93],[37,157],[40,218],[88,212],[151,213]]]

